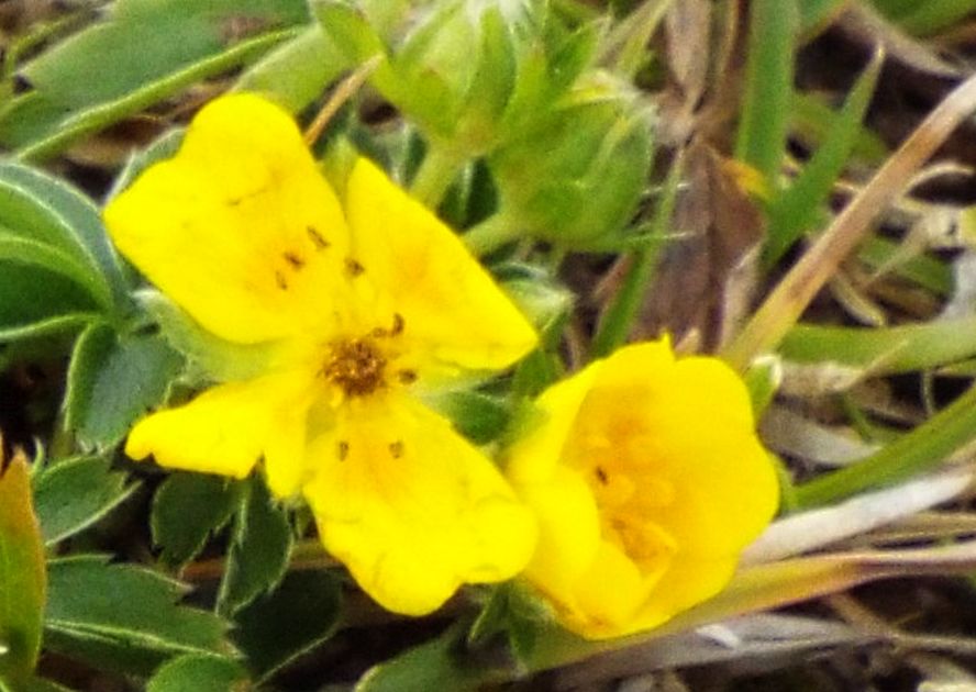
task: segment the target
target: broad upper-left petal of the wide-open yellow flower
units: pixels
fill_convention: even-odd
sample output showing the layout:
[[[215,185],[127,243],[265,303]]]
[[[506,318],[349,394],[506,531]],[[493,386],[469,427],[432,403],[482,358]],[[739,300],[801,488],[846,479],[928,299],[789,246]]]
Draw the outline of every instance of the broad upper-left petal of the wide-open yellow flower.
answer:
[[[104,220],[123,255],[225,339],[293,334],[342,302],[340,203],[290,115],[257,96],[204,107],[176,157],[140,176]]]

